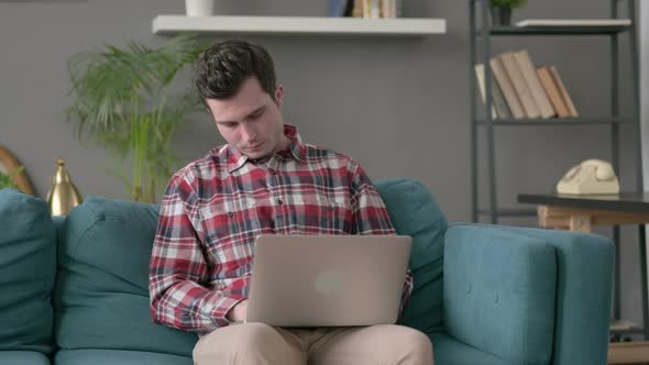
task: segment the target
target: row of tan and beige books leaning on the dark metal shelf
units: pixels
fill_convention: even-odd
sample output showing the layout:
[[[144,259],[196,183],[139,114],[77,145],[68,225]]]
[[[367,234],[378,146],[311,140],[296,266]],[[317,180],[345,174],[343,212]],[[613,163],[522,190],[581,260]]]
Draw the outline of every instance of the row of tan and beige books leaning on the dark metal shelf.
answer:
[[[486,99],[484,65],[475,65],[483,102]],[[493,119],[549,119],[579,117],[554,66],[536,67],[525,49],[490,59]]]

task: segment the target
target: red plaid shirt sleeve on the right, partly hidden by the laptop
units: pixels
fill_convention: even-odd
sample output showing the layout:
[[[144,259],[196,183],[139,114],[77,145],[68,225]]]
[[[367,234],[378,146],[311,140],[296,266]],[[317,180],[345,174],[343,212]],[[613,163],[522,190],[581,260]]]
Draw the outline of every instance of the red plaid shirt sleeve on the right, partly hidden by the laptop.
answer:
[[[352,176],[351,204],[354,220],[354,233],[374,235],[396,234],[389,218],[389,212],[370,177],[358,164],[353,164],[350,170]],[[413,273],[410,272],[410,268],[408,268],[404,281],[399,316],[404,312],[404,309],[410,299],[413,285]]]

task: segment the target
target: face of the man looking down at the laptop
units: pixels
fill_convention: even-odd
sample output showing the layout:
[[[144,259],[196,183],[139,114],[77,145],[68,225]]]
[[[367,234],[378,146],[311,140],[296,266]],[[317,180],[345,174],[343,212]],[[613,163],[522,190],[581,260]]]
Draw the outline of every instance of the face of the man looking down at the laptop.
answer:
[[[275,88],[275,100],[266,93],[256,77],[250,77],[234,97],[207,99],[219,133],[228,143],[250,158],[262,158],[282,150],[284,136],[280,107],[282,86]]]

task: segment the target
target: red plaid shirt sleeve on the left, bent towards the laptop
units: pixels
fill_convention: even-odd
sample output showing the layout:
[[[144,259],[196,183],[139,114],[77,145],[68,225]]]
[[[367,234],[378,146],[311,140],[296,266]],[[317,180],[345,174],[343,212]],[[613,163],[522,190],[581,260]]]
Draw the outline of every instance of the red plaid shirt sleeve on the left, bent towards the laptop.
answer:
[[[151,316],[155,323],[208,333],[230,323],[228,311],[241,296],[205,287],[209,264],[197,195],[186,177],[175,175],[163,197],[148,269]]]

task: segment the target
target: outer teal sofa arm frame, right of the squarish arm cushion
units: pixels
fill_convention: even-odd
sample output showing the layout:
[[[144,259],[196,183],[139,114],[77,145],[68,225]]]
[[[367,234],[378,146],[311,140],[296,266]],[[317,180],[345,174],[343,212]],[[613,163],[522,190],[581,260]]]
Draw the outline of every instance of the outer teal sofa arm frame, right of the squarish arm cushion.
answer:
[[[606,364],[615,246],[602,235],[502,226],[557,251],[553,365]]]

